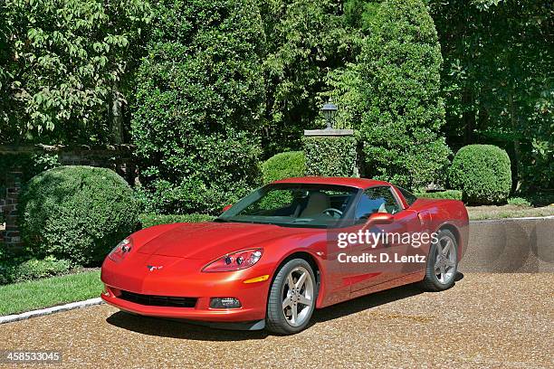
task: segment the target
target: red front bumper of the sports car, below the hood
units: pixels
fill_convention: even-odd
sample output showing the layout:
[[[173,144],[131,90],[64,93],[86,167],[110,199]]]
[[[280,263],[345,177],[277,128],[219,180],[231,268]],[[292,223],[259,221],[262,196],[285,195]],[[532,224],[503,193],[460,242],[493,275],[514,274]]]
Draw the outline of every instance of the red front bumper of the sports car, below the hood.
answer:
[[[101,279],[104,282],[101,298],[113,307],[148,317],[216,323],[253,322],[265,318],[272,272],[269,265],[212,273],[201,272],[200,268],[195,265],[195,260],[177,260],[167,270],[150,272],[146,268],[121,268],[117,263],[106,260],[101,271]],[[244,283],[244,280],[262,275],[270,277],[260,282]],[[150,296],[196,298],[196,305],[142,305],[121,298],[121,290]],[[210,307],[211,298],[237,298],[241,307]]]

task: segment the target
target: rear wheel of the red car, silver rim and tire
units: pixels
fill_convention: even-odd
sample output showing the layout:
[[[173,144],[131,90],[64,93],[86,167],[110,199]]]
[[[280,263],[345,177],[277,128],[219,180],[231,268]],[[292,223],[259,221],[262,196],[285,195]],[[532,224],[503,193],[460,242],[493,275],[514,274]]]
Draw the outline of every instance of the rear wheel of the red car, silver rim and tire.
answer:
[[[429,250],[423,280],[424,288],[430,291],[450,289],[458,272],[458,245],[454,234],[440,230],[436,238]]]

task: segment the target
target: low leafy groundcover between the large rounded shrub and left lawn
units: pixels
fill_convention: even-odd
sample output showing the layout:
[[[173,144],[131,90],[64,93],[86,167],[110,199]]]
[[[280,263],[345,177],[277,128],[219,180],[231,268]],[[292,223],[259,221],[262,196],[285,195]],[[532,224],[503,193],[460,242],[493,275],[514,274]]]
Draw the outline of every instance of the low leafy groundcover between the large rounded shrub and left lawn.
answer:
[[[0,284],[57,276],[69,272],[71,268],[69,260],[57,260],[53,256],[43,260],[26,260],[20,264],[5,264],[0,266]]]

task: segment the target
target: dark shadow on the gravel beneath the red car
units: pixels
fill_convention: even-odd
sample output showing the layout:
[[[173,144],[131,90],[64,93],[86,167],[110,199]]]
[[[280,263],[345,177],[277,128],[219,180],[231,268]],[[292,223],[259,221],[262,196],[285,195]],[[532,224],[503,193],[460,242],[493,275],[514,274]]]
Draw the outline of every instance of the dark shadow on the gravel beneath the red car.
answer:
[[[463,279],[463,274],[458,272],[456,281]],[[361,298],[355,298],[338,305],[325,307],[314,312],[310,326],[333,320],[339,317],[346,317],[372,307],[378,307],[390,302],[411,298],[424,291],[417,283],[406,286],[387,289]],[[124,312],[117,312],[106,319],[112,326],[129,329],[148,336],[166,336],[171,338],[191,339],[196,341],[243,341],[263,339],[270,336],[270,333],[261,331],[225,330],[215,329],[208,326],[198,326],[177,320],[167,320],[155,317],[140,317]],[[309,326],[309,327],[310,327]],[[308,328],[309,328],[308,327]]]

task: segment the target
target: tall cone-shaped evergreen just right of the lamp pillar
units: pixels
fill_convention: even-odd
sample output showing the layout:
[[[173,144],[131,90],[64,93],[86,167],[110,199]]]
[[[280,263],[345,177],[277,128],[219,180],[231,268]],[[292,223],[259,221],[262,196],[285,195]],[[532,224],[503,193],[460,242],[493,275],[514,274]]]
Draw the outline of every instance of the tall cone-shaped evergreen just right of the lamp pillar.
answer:
[[[450,150],[440,137],[441,49],[422,0],[386,0],[365,18],[356,63],[330,74],[339,123],[358,131],[362,174],[416,188],[441,180]]]

